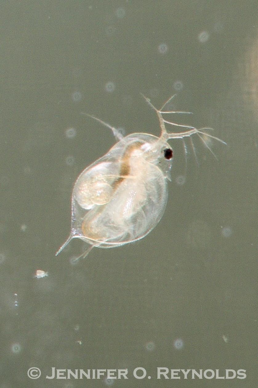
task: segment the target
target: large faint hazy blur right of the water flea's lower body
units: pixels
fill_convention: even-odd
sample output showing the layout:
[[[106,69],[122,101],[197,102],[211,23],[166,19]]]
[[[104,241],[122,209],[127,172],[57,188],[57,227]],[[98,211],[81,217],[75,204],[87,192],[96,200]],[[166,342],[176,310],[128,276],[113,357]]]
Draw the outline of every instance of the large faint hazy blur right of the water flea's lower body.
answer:
[[[211,241],[209,225],[202,220],[193,220],[188,225],[186,242],[195,249],[207,249]]]

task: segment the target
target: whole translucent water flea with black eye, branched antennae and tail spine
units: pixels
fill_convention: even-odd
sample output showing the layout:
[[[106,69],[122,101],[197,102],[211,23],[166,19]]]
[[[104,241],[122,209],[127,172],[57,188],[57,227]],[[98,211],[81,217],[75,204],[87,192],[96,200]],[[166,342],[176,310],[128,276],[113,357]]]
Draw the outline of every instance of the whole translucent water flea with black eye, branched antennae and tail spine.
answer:
[[[206,132],[210,128],[197,130],[165,120],[164,114],[188,113],[166,111],[166,105],[173,97],[161,109],[156,109],[144,97],[157,113],[160,137],[149,133],[132,133],[123,137],[116,128],[91,116],[108,126],[118,142],[77,178],[72,193],[70,236],[56,255],[73,238],[89,244],[87,251],[81,255],[84,257],[94,247],[114,248],[142,239],[154,229],[166,208],[167,180],[170,180],[173,159],[168,140],[182,139],[184,142],[185,137],[191,140],[191,136],[196,135],[208,149],[207,139],[224,143]],[[185,128],[185,131],[169,133],[166,123]],[[192,140],[191,144],[195,151]]]

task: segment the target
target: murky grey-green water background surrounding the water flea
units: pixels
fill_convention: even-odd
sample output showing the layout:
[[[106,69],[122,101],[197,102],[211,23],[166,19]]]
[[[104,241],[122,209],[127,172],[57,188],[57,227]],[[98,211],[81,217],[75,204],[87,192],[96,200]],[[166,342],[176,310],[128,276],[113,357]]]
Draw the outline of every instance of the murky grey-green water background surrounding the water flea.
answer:
[[[0,388],[111,384],[46,380],[51,367],[128,368],[113,386],[255,387],[257,3],[3,2],[0,22]],[[198,167],[172,142],[169,201],[151,234],[76,265],[80,241],[56,258],[75,178],[114,144],[80,112],[157,134],[140,92],[157,107],[176,92],[176,109],[194,113],[181,122],[215,128],[227,146],[212,143],[215,160],[197,140]],[[152,379],[133,378],[135,367]],[[159,381],[157,367],[247,378]]]

